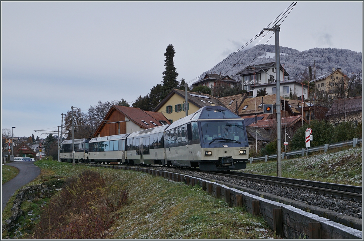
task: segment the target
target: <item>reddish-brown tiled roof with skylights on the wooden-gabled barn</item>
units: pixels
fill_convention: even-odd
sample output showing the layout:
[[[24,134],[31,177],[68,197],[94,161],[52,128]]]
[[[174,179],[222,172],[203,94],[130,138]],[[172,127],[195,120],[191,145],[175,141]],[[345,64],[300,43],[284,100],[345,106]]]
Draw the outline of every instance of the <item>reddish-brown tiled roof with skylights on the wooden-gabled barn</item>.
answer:
[[[167,120],[167,118],[162,113],[155,114],[156,112],[143,111],[139,108],[127,107],[127,106],[112,106],[112,107],[115,107],[117,110],[122,112],[128,119],[130,119],[135,124],[142,126],[146,129],[155,127],[155,125],[150,123],[151,121],[153,121],[158,126],[162,126],[162,124],[159,122],[159,120],[165,120],[168,124],[170,124],[170,122]],[[151,116],[149,113],[153,113],[154,117]],[[164,118],[162,118],[162,115]],[[147,122],[149,125],[146,125],[144,122],[142,122],[142,120]]]

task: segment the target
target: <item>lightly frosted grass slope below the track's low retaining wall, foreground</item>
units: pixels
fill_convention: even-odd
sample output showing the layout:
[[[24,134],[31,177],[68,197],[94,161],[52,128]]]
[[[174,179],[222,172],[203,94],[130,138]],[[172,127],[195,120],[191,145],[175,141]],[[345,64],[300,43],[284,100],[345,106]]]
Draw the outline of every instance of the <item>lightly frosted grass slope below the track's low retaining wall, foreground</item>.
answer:
[[[82,165],[72,167],[71,164],[54,161],[37,161],[36,165],[41,167],[41,175],[29,184],[65,179],[83,170],[94,170],[111,177],[114,185],[128,190],[127,205],[112,214],[113,223],[108,238],[274,237],[272,230],[267,228],[261,218],[245,213],[244,208],[228,206],[221,199],[215,199],[202,191],[199,186],[187,186],[136,171]],[[4,215],[9,214],[12,200],[13,198],[3,212],[3,220],[7,219]],[[35,203],[23,202],[22,209],[25,212],[33,210],[33,213],[40,213],[39,204]],[[22,233],[31,233],[31,228],[36,226],[29,225],[31,221],[28,219],[21,222],[24,227],[27,226],[21,230]]]

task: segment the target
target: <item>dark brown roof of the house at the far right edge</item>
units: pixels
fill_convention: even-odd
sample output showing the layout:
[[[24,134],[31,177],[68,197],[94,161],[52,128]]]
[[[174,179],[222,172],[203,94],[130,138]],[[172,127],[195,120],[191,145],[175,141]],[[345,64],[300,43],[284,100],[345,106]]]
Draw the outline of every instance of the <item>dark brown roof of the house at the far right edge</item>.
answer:
[[[343,114],[346,112],[357,112],[363,110],[362,98],[353,97],[347,99],[334,100],[326,116]]]

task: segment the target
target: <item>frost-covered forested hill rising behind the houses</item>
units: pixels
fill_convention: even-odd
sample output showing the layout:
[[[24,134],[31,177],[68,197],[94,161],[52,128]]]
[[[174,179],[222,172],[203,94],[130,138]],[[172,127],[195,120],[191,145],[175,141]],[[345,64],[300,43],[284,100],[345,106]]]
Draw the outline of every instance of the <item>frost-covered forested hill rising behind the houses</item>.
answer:
[[[233,75],[234,79],[240,80],[240,76],[235,76],[235,74],[246,66],[275,62],[275,57],[271,55],[269,58],[269,54],[267,53],[276,52],[276,47],[274,45],[266,45],[263,48],[263,46],[263,44],[260,44],[255,46],[252,50],[246,48],[236,54],[230,54],[212,70],[203,72],[200,79],[206,73],[219,74],[221,72],[222,75]],[[350,77],[352,73],[357,74],[361,71],[362,66],[361,52],[351,50],[312,48],[306,51],[298,51],[293,48],[280,47],[280,53],[286,54],[281,55],[280,62],[282,65],[284,64],[284,69],[288,72],[290,80],[300,80],[301,74],[304,71],[308,71],[309,66],[311,66],[312,71],[314,71],[314,60],[316,60],[316,76],[329,72],[332,70],[332,67],[335,67],[341,68],[344,74],[347,74]],[[236,63],[242,64],[237,64],[233,67],[233,64]]]

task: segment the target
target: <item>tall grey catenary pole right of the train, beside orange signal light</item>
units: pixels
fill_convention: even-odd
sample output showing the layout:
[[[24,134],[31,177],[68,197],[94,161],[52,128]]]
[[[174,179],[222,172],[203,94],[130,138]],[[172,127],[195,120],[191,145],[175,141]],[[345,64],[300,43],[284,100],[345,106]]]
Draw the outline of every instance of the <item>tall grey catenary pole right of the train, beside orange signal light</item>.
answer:
[[[274,28],[264,28],[264,30],[274,31],[276,35],[276,111],[277,111],[277,177],[282,175],[282,156],[281,156],[281,77],[280,77],[280,61],[279,61],[279,24]]]

